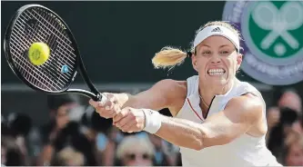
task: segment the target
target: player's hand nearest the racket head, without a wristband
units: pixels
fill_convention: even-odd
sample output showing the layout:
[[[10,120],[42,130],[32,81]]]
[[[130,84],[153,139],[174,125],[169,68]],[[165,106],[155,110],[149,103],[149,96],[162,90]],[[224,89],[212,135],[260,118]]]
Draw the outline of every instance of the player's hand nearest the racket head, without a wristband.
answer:
[[[95,107],[96,113],[99,113],[100,116],[106,119],[113,118],[121,111],[120,105],[114,93],[104,94],[107,98],[104,98],[101,102],[96,102],[93,99],[90,99],[89,104]]]

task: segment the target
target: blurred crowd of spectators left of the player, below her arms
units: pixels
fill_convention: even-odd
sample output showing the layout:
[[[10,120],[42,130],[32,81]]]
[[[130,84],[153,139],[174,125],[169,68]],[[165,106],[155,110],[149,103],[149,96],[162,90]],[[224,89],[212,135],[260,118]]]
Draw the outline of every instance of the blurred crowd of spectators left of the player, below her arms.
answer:
[[[88,104],[88,100],[86,102]],[[177,166],[178,148],[148,133],[122,133],[75,94],[47,96],[49,122],[25,113],[1,119],[1,162],[7,166]],[[38,118],[35,118],[38,119]]]

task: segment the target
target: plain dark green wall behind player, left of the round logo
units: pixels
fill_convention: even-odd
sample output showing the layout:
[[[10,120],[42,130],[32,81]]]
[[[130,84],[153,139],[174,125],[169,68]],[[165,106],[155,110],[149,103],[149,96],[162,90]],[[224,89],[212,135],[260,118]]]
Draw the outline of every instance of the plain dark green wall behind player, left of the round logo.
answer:
[[[221,20],[225,5],[225,2],[34,3],[51,8],[66,20],[95,83],[184,80],[195,74],[189,59],[167,73],[154,69],[151,58],[166,45],[187,49],[200,25]],[[29,3],[2,2],[2,36],[11,15],[25,4]],[[2,82],[19,83],[4,56]]]

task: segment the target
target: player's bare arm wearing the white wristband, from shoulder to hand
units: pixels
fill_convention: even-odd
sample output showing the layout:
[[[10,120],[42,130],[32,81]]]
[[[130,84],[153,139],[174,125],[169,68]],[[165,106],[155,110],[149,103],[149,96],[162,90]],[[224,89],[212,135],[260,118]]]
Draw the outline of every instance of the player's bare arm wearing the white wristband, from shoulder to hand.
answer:
[[[136,115],[134,117],[136,118],[161,120],[161,127],[155,134],[167,140],[167,142],[182,147],[201,150],[206,147],[232,142],[244,133],[248,135],[258,135],[258,133],[250,130],[254,129],[252,127],[258,127],[258,123],[261,123],[262,110],[263,104],[258,100],[258,97],[243,95],[230,100],[225,110],[207,117],[207,120],[203,123],[194,123],[163,115],[157,115],[157,118],[150,119],[145,118],[146,114],[142,114],[140,110],[134,110],[133,112],[135,112]],[[128,114],[132,115],[133,113]],[[131,117],[130,115],[129,117]],[[146,116],[153,117],[155,115]],[[123,119],[127,119],[127,117]],[[140,121],[140,119],[133,119],[134,123],[130,121],[132,119],[128,119],[124,123],[123,119],[116,123],[116,126],[124,132],[136,132],[141,131],[140,128],[147,128],[144,126],[146,123]],[[136,120],[138,120],[139,123],[136,123]],[[133,125],[128,127],[129,124]],[[261,132],[261,130],[259,130],[259,132]]]

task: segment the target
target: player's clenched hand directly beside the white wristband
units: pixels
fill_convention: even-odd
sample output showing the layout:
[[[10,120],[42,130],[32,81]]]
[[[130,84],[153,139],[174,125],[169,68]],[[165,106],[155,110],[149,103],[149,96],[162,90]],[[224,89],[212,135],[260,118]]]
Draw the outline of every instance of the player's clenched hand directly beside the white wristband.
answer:
[[[145,114],[140,109],[126,107],[113,118],[113,124],[125,133],[136,133],[145,127]]]

